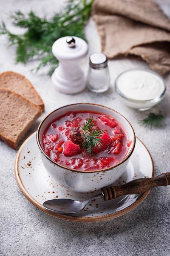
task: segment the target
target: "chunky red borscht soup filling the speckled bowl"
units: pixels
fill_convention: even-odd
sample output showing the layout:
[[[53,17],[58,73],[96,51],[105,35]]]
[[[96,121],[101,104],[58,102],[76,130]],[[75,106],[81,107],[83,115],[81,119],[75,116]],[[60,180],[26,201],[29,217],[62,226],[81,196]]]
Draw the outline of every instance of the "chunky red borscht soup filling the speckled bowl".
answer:
[[[93,131],[102,131],[100,146],[83,148],[82,125],[93,119]],[[92,131],[92,130],[91,130]],[[112,167],[123,160],[131,144],[122,125],[111,116],[88,111],[67,112],[45,129],[43,148],[56,163],[70,169],[91,171]]]

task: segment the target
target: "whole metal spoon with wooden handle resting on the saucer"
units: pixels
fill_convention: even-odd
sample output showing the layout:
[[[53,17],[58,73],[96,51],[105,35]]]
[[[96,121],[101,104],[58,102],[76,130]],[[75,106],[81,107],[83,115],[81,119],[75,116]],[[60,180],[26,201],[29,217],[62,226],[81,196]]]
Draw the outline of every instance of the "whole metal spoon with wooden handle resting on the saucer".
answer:
[[[140,178],[132,180],[124,185],[103,188],[101,193],[88,198],[84,202],[72,199],[52,199],[45,201],[42,205],[45,209],[59,214],[73,214],[81,212],[92,200],[103,198],[105,201],[115,199],[121,195],[136,195],[144,193],[158,186],[170,185],[170,172],[162,173],[153,178]]]

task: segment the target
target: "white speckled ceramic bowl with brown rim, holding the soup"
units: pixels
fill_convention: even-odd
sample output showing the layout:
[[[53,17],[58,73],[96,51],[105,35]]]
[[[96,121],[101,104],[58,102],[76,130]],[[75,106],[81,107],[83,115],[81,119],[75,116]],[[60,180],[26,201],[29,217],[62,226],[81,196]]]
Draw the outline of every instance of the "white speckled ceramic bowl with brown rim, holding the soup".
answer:
[[[44,133],[45,128],[48,126],[49,123],[51,123],[58,116],[65,114],[67,111],[99,112],[108,116],[112,116],[118,122],[120,122],[127,131],[129,140],[132,140],[132,143],[124,159],[113,167],[98,171],[95,170],[85,172],[73,170],[65,166],[62,166],[59,163],[54,162],[54,160],[52,160],[50,157],[48,157],[48,155],[45,153],[42,147],[42,134]],[[112,183],[114,183],[117,179],[119,179],[119,177],[124,172],[127,163],[130,160],[130,156],[133,153],[135,147],[135,142],[136,138],[133,128],[124,116],[122,116],[120,113],[114,111],[111,108],[90,103],[77,103],[54,110],[42,120],[37,130],[37,144],[40,148],[42,163],[44,164],[48,174],[54,180],[56,180],[61,186],[77,192],[95,191],[105,186],[109,186]]]

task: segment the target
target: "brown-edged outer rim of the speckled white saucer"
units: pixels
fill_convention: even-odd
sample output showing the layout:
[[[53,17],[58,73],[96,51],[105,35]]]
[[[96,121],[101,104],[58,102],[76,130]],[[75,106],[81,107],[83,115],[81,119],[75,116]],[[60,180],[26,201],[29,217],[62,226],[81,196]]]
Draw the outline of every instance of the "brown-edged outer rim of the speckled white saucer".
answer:
[[[51,215],[55,218],[60,218],[63,220],[67,220],[67,221],[77,221],[77,222],[97,222],[97,221],[106,221],[106,220],[110,220],[113,218],[117,218],[120,217],[124,214],[126,214],[127,212],[130,212],[131,210],[133,210],[134,208],[136,208],[139,204],[142,203],[142,201],[144,201],[144,199],[147,197],[147,195],[149,194],[150,191],[145,192],[141,197],[139,197],[139,199],[134,202],[133,204],[131,204],[128,207],[125,207],[124,209],[118,211],[118,212],[114,212],[111,214],[106,214],[106,215],[102,215],[102,216],[94,216],[94,217],[77,217],[74,215],[62,215],[62,214],[57,214],[51,211],[48,211],[47,209],[45,209],[42,204],[40,204],[38,201],[36,201],[26,190],[25,186],[22,183],[22,180],[20,178],[20,173],[19,173],[19,160],[20,160],[20,154],[21,151],[23,149],[23,146],[26,144],[26,142],[30,139],[30,137],[32,137],[37,131],[35,131],[33,134],[31,134],[24,142],[23,144],[20,146],[18,152],[17,152],[17,156],[15,159],[15,165],[14,165],[14,173],[15,173],[15,179],[17,181],[17,185],[19,186],[21,192],[23,193],[23,195],[25,195],[25,197],[28,199],[28,201],[31,202],[31,204],[33,204],[35,207],[37,207],[38,209],[42,210],[42,212],[47,213],[48,215]],[[136,139],[139,140],[138,137],[136,137]],[[139,140],[141,143],[142,141]],[[142,143],[144,145],[144,143]],[[147,149],[147,147],[144,145],[144,147],[146,148],[148,154],[150,155],[150,159],[152,162],[152,177],[154,177],[154,164],[153,164],[153,159],[151,157],[151,154],[149,152],[149,150]]]

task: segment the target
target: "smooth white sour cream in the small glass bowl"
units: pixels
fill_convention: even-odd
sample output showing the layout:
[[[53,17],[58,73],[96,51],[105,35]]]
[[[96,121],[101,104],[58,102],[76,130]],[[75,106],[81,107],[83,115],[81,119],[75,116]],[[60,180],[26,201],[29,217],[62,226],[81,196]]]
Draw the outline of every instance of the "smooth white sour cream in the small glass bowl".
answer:
[[[119,91],[135,100],[156,99],[164,91],[163,80],[154,73],[144,70],[129,70],[116,81]]]

